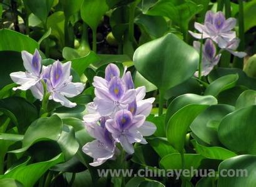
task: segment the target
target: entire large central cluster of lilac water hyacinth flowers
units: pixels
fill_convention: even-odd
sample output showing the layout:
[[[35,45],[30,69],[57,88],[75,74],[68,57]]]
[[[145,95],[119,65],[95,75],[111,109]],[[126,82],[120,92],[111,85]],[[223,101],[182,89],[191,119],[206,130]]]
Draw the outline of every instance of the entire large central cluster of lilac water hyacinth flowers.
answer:
[[[96,97],[86,105],[88,114],[84,115],[83,120],[86,130],[96,140],[84,145],[83,151],[94,158],[91,165],[98,166],[107,159],[115,159],[117,143],[128,154],[134,152],[133,143],[147,143],[143,137],[152,135],[156,130],[153,123],[145,121],[155,98],[144,99],[145,87],[135,89],[131,73],[126,72],[125,68],[123,77],[120,77],[120,70],[115,64],[106,67],[105,79],[95,76],[93,80]],[[106,137],[111,135],[108,152],[106,146],[100,146],[101,143],[106,145],[107,138],[100,140],[95,136],[95,130],[99,127],[101,130],[104,127],[105,134],[108,134]]]

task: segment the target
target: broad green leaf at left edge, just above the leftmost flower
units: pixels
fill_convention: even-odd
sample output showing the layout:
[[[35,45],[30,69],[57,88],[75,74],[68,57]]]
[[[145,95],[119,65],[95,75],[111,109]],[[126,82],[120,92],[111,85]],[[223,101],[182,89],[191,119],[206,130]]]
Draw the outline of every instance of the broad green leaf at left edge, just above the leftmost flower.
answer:
[[[21,52],[27,50],[34,53],[35,49],[39,49],[38,42],[28,36],[9,29],[0,29],[0,50],[14,50]]]

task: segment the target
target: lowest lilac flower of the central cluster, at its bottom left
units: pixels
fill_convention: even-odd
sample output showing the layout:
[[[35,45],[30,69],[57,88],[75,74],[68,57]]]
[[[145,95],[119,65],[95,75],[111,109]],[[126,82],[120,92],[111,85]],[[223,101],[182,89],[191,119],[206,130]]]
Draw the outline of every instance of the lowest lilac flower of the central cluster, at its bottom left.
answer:
[[[115,154],[118,153],[111,133],[106,130],[105,122],[106,119],[103,117],[101,118],[101,125],[96,123],[86,125],[91,137],[96,138],[96,140],[83,146],[83,152],[93,158],[93,163],[90,163],[91,166],[99,166],[108,159],[115,159]]]

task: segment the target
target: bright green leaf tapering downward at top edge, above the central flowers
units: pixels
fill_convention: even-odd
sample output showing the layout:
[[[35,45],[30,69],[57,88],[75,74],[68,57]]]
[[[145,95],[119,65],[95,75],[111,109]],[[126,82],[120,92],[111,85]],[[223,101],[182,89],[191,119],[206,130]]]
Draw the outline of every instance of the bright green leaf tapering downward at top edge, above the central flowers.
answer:
[[[105,0],[85,0],[81,6],[81,17],[91,29],[96,31],[106,11],[108,11],[108,4]]]

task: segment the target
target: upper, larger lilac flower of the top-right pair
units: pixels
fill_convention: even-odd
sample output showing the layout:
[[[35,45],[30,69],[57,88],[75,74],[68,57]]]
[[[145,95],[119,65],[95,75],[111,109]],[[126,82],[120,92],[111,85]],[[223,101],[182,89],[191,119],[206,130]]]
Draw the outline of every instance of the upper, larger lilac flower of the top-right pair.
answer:
[[[226,20],[220,11],[215,14],[212,11],[208,11],[203,25],[195,22],[195,29],[200,34],[189,32],[197,39],[211,38],[220,48],[223,48],[227,46],[228,42],[235,39],[236,34],[232,29],[235,27],[236,22],[236,19],[233,17]]]

